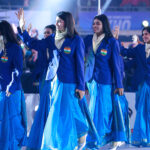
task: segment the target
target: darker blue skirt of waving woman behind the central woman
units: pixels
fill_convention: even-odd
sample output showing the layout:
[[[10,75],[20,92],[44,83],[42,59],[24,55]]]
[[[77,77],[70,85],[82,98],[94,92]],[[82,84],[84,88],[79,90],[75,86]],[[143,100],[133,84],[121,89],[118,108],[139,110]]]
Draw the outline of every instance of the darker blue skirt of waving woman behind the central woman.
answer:
[[[28,147],[40,149],[44,127],[50,110],[51,81],[46,81],[45,76],[40,81],[40,103],[34,117],[34,122],[28,138]]]

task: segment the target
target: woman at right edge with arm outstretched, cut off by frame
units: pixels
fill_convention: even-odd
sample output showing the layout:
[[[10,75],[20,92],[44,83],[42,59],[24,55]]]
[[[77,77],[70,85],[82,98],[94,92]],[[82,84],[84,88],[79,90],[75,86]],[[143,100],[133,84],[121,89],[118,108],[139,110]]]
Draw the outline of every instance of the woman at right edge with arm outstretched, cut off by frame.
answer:
[[[122,47],[121,54],[136,60],[136,82],[139,86],[132,144],[150,146],[150,26],[143,28],[142,38],[145,44],[130,49]]]

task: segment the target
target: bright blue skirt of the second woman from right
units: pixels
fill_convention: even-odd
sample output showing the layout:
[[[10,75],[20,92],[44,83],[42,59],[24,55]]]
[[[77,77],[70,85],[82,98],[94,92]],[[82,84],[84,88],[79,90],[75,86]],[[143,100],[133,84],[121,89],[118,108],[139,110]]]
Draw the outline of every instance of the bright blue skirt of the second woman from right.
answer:
[[[112,86],[99,84],[96,81],[87,83],[90,93],[89,109],[93,122],[100,137],[100,145],[103,146],[112,140]],[[95,147],[94,136],[87,137],[87,144]]]

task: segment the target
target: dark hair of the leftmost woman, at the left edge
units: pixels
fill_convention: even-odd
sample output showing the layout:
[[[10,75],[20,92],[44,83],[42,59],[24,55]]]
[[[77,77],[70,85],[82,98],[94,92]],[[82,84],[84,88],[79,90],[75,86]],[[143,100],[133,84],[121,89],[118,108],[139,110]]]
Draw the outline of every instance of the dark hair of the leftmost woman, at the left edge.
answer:
[[[12,26],[6,20],[0,21],[0,35],[4,36],[6,42],[19,44],[17,36],[15,35]]]

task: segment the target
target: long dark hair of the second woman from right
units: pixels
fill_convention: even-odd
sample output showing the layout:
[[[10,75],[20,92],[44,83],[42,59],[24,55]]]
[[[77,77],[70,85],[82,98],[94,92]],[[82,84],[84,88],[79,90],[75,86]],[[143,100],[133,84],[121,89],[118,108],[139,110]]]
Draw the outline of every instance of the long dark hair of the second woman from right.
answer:
[[[105,33],[105,37],[106,38],[110,38],[110,37],[113,37],[113,34],[111,32],[111,29],[110,29],[110,24],[109,24],[109,21],[108,21],[108,18],[106,15],[102,14],[102,15],[97,15],[94,17],[93,21],[95,19],[98,19],[102,22],[102,25],[103,25],[103,33]]]

